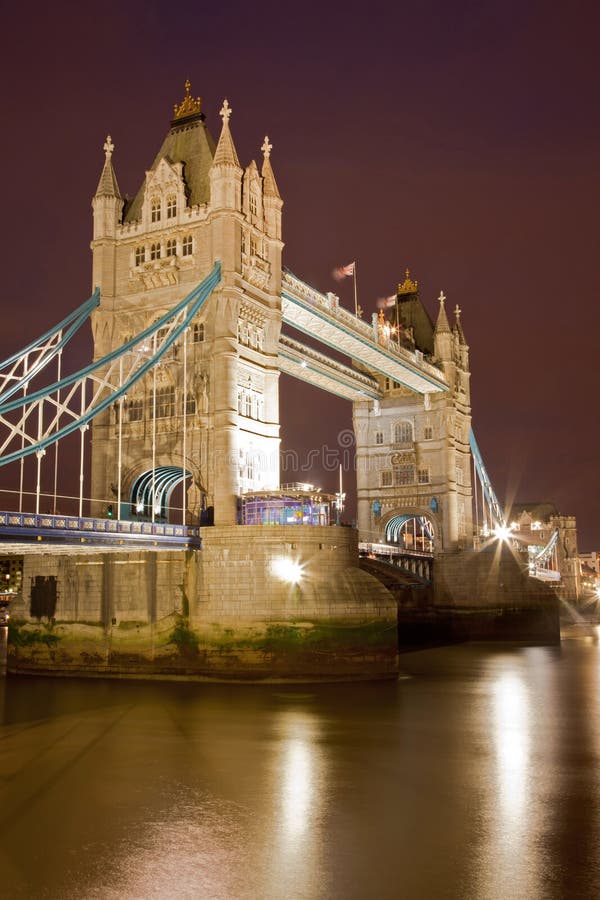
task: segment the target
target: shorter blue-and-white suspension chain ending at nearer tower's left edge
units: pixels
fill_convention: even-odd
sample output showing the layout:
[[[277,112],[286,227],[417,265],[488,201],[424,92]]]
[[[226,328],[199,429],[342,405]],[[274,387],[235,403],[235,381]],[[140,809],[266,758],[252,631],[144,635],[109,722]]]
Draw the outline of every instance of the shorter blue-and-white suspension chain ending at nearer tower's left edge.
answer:
[[[99,303],[100,289],[96,288],[92,296],[69,313],[62,322],[0,363],[0,403],[5,403],[14,394],[26,389],[31,379],[56,358],[87,322]],[[30,362],[30,357],[33,357],[33,362]]]

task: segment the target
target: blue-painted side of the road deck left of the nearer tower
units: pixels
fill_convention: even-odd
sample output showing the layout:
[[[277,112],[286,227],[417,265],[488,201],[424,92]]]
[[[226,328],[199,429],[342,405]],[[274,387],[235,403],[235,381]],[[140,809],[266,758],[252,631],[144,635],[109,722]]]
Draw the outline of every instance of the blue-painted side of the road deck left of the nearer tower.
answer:
[[[0,512],[0,546],[19,541],[71,544],[185,546],[199,550],[200,529],[166,522],[93,519],[79,516]]]

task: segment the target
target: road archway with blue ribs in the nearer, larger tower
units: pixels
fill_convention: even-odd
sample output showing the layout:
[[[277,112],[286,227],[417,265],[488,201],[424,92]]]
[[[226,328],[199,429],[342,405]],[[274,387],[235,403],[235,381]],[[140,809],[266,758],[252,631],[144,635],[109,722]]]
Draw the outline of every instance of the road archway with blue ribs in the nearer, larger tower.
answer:
[[[184,513],[183,492],[191,477],[191,472],[184,471],[181,466],[157,466],[143,472],[131,487],[131,517],[145,521],[181,523]],[[179,505],[172,505],[176,489],[179,489],[176,494]]]

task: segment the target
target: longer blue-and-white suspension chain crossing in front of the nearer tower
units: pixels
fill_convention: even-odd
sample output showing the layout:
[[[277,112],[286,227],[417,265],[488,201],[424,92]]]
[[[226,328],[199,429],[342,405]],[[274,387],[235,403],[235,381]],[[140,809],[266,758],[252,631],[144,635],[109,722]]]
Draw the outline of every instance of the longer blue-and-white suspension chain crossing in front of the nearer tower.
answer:
[[[156,365],[189,327],[220,280],[221,264],[217,262],[210,275],[187,297],[122,347],[43,390],[1,404],[0,429],[6,437],[0,440],[0,465],[34,453],[43,454],[47,447],[68,434],[85,430],[95,416],[124,397]],[[152,340],[152,350],[146,345],[149,339]],[[129,365],[129,371],[121,378],[119,372],[125,362]],[[79,408],[73,409],[69,404],[77,397],[80,399]],[[18,411],[21,411],[21,418],[15,422],[11,413]],[[61,426],[63,417],[70,421]],[[37,423],[45,423],[41,436],[30,435],[28,423],[32,428]],[[13,442],[23,446],[7,452]]]

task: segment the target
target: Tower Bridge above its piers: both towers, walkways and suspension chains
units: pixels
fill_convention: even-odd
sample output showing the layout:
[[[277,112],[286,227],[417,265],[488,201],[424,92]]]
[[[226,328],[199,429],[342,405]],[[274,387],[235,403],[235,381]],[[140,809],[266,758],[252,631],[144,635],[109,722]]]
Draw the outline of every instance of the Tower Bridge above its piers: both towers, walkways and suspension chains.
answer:
[[[110,508],[119,520],[164,521],[180,483],[179,524],[233,525],[240,496],[279,487],[285,372],[353,404],[363,543],[416,550],[412,525],[391,527],[400,516],[426,522],[436,552],[472,547],[506,522],[471,427],[459,308],[451,327],[442,293],[434,324],[407,271],[389,319],[366,322],[284,269],[272,145],[266,137],[260,173],[254,161],[242,168],[231,114],[224,101],[215,146],[186,86],[128,201],[107,138],[92,203],[94,292],[0,368],[0,464],[20,464],[22,493],[23,459],[35,457],[39,515],[46,451],[79,432],[78,518]],[[63,350],[89,317],[94,361],[65,376]],[[53,365],[55,380],[38,386]]]

